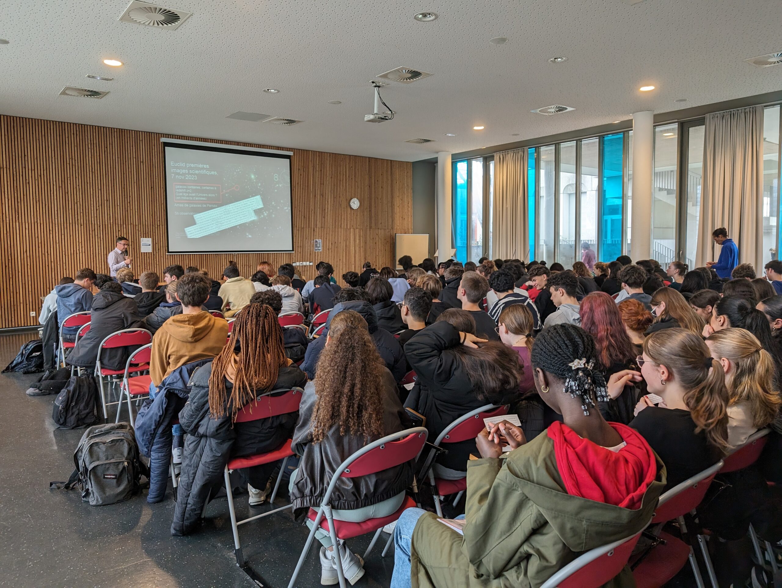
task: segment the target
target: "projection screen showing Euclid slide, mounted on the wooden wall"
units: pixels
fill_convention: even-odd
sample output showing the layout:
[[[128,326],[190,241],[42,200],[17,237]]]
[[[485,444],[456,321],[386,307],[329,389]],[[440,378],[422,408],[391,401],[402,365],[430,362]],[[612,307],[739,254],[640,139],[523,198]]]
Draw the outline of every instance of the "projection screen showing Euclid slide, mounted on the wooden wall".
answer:
[[[290,151],[163,148],[169,253],[293,250]]]

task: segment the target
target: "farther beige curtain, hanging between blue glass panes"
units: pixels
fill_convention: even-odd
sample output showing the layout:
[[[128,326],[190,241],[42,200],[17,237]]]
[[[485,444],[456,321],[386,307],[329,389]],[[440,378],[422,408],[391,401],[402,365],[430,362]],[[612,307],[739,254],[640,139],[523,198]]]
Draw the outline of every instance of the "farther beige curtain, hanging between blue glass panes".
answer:
[[[494,155],[494,258],[529,258],[527,229],[527,150],[500,151]]]

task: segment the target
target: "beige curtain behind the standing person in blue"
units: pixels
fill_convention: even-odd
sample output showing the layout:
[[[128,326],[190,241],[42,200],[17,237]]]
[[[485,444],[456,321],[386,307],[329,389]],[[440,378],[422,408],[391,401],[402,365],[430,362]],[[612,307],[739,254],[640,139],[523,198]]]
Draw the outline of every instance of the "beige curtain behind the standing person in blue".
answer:
[[[724,226],[739,261],[762,267],[762,149],[762,106],[706,115],[695,265],[717,260],[712,231]]]

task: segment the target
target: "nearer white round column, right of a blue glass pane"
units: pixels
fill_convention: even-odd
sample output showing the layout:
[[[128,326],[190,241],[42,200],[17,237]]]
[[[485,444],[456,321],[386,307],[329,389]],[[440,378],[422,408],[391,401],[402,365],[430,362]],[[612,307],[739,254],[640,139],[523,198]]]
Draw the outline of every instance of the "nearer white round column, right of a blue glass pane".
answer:
[[[654,112],[633,112],[633,211],[630,257],[651,258],[651,184],[654,172]]]

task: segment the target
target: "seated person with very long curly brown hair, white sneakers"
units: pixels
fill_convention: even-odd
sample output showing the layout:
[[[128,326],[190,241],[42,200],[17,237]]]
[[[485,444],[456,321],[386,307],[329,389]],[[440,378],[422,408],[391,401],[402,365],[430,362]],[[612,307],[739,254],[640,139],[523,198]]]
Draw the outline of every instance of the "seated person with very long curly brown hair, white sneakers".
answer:
[[[331,317],[329,317],[331,318]],[[332,320],[314,381],[307,383],[292,450],[301,455],[290,477],[295,515],[317,509],[336,467],[355,451],[386,435],[411,426],[396,392],[394,377],[383,365],[368,333],[368,323],[357,312],[339,312]],[[369,476],[338,483],[332,494],[334,519],[362,522],[391,515],[402,505],[413,481],[410,462]],[[307,525],[312,523],[307,519]],[[322,530],[321,584],[335,584],[335,557],[340,557],[350,584],[364,575],[364,562],[343,541],[339,556]]]

